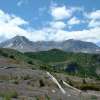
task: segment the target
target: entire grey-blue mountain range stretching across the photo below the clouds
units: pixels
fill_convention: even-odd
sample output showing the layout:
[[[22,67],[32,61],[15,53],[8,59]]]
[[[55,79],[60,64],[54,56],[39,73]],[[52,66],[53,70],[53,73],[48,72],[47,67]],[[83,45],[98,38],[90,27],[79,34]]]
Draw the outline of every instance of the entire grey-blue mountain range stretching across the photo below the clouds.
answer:
[[[38,41],[32,42],[24,36],[15,36],[0,44],[1,48],[12,48],[21,52],[47,51],[60,49],[67,52],[99,53],[100,47],[91,42],[69,39],[62,42]]]

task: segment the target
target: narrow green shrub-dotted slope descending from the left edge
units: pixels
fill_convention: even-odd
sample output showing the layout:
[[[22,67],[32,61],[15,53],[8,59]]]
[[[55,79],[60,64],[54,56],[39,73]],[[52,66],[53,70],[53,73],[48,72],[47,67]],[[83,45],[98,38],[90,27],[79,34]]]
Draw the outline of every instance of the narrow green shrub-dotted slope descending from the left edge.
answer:
[[[0,48],[0,56],[5,57],[8,59],[13,59],[16,62],[21,62],[21,63],[28,63],[28,64],[33,64],[33,65],[38,65],[41,62],[35,59],[32,59],[23,53],[13,50],[13,49],[7,49],[7,48]]]

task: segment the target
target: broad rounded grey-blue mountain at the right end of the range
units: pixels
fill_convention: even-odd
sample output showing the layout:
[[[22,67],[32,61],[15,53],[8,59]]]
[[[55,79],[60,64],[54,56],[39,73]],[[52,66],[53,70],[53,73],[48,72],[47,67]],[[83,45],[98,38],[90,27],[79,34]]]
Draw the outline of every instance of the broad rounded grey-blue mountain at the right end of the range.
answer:
[[[64,51],[71,52],[83,52],[83,53],[99,53],[100,47],[91,42],[84,42],[80,40],[67,40],[62,42],[62,49]]]

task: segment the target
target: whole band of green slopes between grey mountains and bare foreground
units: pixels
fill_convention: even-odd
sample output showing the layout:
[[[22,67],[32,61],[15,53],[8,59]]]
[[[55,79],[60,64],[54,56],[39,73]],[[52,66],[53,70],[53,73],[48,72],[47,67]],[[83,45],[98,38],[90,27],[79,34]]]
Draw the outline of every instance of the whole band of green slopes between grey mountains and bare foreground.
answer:
[[[66,53],[57,49],[25,54],[12,49],[0,49],[0,56],[35,65],[48,71],[67,72],[79,76],[98,77],[96,69],[100,67],[100,55]]]

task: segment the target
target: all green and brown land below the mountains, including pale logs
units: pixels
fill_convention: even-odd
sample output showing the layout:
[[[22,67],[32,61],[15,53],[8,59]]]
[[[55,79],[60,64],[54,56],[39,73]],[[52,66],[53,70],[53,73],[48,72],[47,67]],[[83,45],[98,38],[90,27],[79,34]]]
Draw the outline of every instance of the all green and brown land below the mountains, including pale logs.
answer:
[[[99,58],[0,49],[0,100],[100,100]]]

